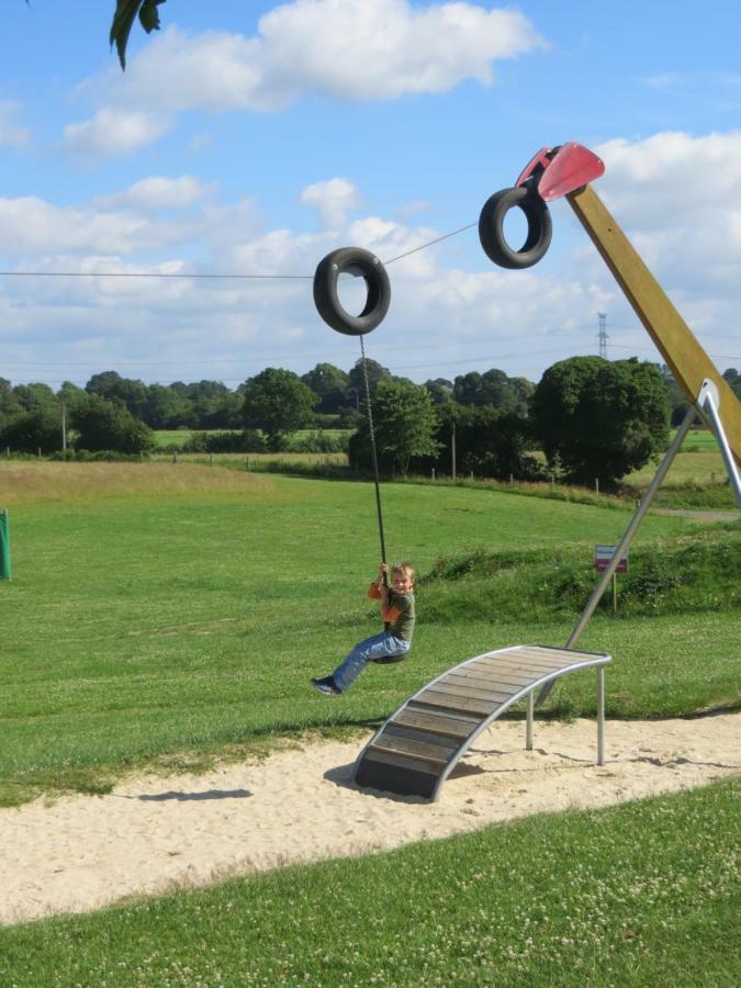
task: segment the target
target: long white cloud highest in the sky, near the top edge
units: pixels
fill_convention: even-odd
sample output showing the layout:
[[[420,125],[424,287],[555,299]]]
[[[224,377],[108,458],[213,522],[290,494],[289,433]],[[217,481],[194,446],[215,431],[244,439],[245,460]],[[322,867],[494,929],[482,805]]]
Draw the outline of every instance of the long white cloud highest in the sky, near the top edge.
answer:
[[[106,74],[82,87],[110,105],[68,126],[65,138],[80,154],[117,155],[156,139],[187,110],[277,111],[311,94],[370,102],[465,79],[489,86],[497,60],[542,44],[518,11],[467,0],[295,0],[267,13],[254,37],[169,27],[125,78]],[[146,113],[124,109],[144,105]]]

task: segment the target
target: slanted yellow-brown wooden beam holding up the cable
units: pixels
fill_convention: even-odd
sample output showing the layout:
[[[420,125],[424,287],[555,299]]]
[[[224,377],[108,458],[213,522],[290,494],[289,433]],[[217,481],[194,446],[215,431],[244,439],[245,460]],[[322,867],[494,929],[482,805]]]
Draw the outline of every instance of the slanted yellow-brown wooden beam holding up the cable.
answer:
[[[697,404],[706,378],[718,389],[720,419],[733,457],[741,465],[741,402],[592,186],[570,192],[566,200],[688,401]]]

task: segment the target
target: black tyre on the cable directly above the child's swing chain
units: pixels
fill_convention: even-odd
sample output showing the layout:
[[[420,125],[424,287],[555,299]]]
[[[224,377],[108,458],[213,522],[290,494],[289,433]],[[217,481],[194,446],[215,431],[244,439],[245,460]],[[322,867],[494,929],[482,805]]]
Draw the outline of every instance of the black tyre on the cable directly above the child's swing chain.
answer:
[[[340,274],[356,274],[366,280],[368,297],[362,312],[350,315],[337,294]],[[324,322],[347,336],[363,336],[383,322],[391,302],[391,283],[386,269],[370,250],[361,247],[340,247],[333,250],[316,267],[314,304]]]

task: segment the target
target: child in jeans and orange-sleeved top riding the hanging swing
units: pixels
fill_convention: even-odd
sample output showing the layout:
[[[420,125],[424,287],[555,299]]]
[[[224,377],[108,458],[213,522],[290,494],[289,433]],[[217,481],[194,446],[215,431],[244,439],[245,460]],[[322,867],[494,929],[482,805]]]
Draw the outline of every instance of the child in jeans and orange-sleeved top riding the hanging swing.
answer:
[[[357,644],[330,676],[312,680],[312,686],[326,696],[339,696],[355,683],[369,662],[403,659],[412,648],[414,632],[414,570],[408,563],[396,563],[391,571],[391,587],[383,585],[389,568],[368,588],[368,596],[381,602],[381,618],[388,630]]]

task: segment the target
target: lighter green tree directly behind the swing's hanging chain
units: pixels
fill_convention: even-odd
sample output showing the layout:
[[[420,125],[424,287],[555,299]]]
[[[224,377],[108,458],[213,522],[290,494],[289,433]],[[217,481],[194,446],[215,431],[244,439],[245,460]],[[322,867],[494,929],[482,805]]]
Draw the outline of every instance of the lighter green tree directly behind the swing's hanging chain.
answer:
[[[372,413],[379,467],[384,472],[406,476],[413,457],[437,453],[435,406],[424,385],[413,384],[404,378],[380,380],[372,400]],[[367,417],[350,438],[349,457],[356,465],[370,465]]]

